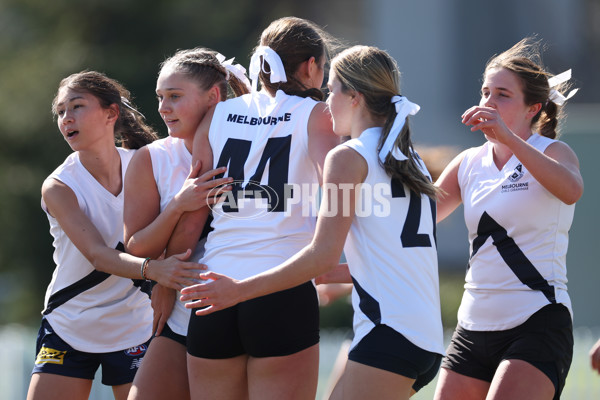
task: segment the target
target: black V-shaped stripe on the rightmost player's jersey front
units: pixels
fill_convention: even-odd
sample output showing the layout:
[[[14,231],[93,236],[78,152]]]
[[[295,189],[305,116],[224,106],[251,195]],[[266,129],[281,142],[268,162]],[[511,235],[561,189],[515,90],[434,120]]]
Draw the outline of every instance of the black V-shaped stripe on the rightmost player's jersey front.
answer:
[[[554,286],[539,273],[535,266],[529,261],[523,251],[517,246],[514,239],[508,236],[508,232],[497,223],[487,212],[484,212],[477,226],[477,237],[473,240],[473,253],[470,259],[477,254],[489,237],[492,244],[498,249],[498,253],[509,266],[519,280],[533,290],[541,291],[550,303],[556,303]],[[469,263],[470,268],[471,265]]]

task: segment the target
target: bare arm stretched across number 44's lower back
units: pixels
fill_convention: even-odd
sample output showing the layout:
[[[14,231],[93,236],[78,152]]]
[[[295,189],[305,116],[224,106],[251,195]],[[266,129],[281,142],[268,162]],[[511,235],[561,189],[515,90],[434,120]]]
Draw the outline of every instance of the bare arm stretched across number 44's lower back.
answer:
[[[209,314],[241,301],[294,287],[335,268],[354,218],[355,188],[366,177],[367,163],[354,150],[339,146],[327,155],[324,171],[323,200],[316,232],[308,246],[281,265],[243,281],[213,272],[203,274],[203,278],[214,281],[183,289],[181,300],[201,299],[186,304],[186,307],[211,305],[196,312],[198,315]]]

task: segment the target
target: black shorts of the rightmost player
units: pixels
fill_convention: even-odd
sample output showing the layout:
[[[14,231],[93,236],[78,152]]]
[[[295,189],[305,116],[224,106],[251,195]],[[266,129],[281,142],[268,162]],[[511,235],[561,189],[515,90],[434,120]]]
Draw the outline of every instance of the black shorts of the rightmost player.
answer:
[[[550,378],[559,399],[573,358],[571,314],[562,304],[549,304],[505,331],[458,326],[446,352],[442,367],[487,382],[503,360],[527,361]]]

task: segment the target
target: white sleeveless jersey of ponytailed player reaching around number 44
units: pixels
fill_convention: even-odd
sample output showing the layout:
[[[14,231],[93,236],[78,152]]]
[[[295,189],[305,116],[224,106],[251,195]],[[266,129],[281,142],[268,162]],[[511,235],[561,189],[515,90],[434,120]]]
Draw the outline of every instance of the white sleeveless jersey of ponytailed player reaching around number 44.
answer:
[[[414,345],[444,354],[435,202],[386,174],[377,151],[381,131],[370,128],[344,143],[369,169],[344,246],[354,283],[352,347],[385,324]]]

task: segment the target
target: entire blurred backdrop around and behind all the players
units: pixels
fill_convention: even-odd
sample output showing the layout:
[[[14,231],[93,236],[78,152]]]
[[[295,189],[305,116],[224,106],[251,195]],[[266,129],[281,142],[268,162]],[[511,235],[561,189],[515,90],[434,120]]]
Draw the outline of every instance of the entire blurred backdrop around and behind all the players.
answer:
[[[161,61],[177,49],[204,46],[247,66],[261,31],[287,15],[311,19],[348,44],[388,50],[403,73],[403,92],[422,106],[413,119],[417,144],[458,146],[457,152],[481,143],[465,133],[459,116],[478,101],[493,54],[538,33],[549,44],[551,71],[573,68],[582,90],[568,106],[565,138],[582,161],[586,193],[575,216],[570,254],[578,258],[569,275],[582,321],[578,310],[589,300],[578,293],[600,301],[593,289],[600,220],[592,164],[599,136],[589,134],[600,125],[598,0],[0,0],[0,326],[39,324],[54,269],[40,187],[70,153],[50,112],[60,80],[84,69],[105,72],[131,90],[164,135],[154,93]],[[444,322],[452,327],[468,255],[460,212],[440,224],[438,243]],[[586,322],[597,321],[593,304]],[[348,321],[348,304],[335,306],[339,311],[324,316],[333,325],[341,315]]]

